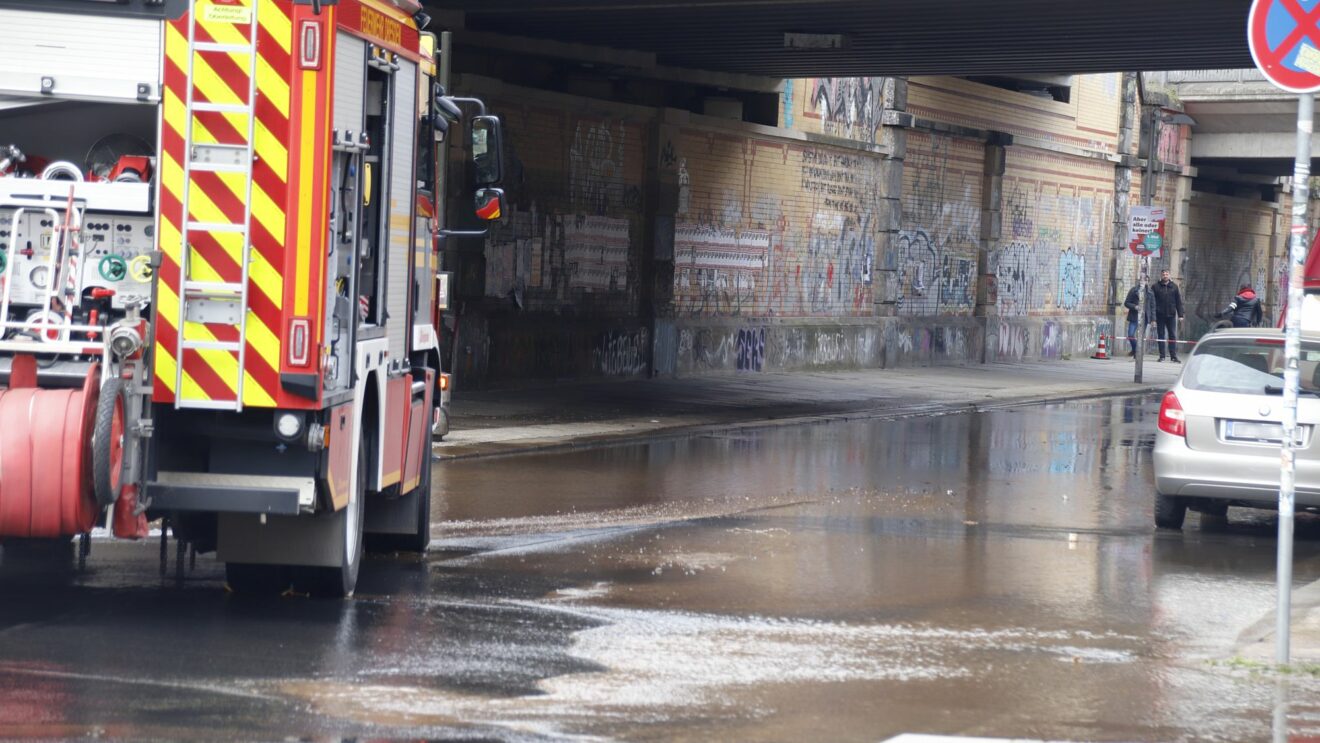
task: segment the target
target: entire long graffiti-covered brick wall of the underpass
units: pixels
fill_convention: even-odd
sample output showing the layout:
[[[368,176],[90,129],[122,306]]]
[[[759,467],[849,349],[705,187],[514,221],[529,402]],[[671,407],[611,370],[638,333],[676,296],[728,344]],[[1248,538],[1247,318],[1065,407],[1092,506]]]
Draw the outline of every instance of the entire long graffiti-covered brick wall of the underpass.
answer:
[[[1111,249],[1140,193],[1121,75],[1076,77],[1067,102],[788,81],[777,128],[463,83],[510,158],[510,215],[461,276],[466,383],[1088,355],[1135,277]],[[1160,158],[1185,165],[1188,133],[1166,128]],[[1242,281],[1276,298],[1272,203],[1193,195],[1177,172],[1154,201],[1154,269],[1180,277],[1191,330]]]

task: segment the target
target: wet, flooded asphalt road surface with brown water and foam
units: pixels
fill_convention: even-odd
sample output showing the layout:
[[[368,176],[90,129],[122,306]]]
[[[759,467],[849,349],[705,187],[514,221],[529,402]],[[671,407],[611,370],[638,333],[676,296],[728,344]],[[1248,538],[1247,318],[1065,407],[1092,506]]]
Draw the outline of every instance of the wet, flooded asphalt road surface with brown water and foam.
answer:
[[[345,602],[162,578],[154,541],[11,548],[0,738],[1320,735],[1320,681],[1233,657],[1272,515],[1152,529],[1156,403],[447,462],[430,554]]]

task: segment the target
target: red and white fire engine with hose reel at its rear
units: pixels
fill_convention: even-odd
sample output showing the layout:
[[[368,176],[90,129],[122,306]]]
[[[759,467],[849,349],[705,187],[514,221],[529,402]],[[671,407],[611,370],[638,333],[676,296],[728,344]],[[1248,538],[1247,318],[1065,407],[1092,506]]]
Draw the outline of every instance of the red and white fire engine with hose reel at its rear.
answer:
[[[499,119],[428,20],[0,0],[0,540],[161,519],[234,590],[335,597],[425,550],[451,127],[503,210]]]

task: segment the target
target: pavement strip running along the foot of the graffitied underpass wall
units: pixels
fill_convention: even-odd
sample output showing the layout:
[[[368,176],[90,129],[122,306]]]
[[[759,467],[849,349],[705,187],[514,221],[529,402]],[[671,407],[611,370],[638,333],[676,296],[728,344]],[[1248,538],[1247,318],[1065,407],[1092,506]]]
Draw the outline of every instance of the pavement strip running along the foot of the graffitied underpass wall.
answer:
[[[929,416],[1168,388],[1181,367],[1024,362],[969,367],[585,381],[458,392],[436,457],[458,459],[598,446],[731,428]]]

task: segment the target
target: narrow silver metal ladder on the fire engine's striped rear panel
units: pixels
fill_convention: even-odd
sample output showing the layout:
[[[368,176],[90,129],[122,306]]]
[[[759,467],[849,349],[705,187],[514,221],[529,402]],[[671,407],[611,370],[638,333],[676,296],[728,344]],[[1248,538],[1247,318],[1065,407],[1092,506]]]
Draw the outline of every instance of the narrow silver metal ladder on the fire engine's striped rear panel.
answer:
[[[197,408],[211,410],[243,409],[243,376],[247,362],[247,315],[248,315],[248,265],[252,260],[252,164],[256,160],[256,70],[257,70],[257,29],[256,18],[257,0],[251,0],[242,5],[248,13],[247,44],[219,44],[213,41],[198,41],[197,24],[198,12],[210,5],[209,0],[190,0],[187,22],[187,92],[185,104],[185,132],[183,132],[183,187],[181,201],[183,206],[181,249],[180,249],[180,297],[178,297],[178,347],[174,354],[174,406]],[[238,103],[215,103],[210,100],[197,100],[195,74],[199,65],[210,66],[207,57],[218,55],[247,55],[248,86],[247,99]],[[214,69],[214,66],[213,66]],[[235,91],[242,95],[242,91]],[[194,141],[194,132],[198,127],[198,113],[222,113],[246,117],[247,139],[239,144],[198,144]],[[194,173],[232,173],[243,178],[247,183],[247,198],[243,199],[243,219],[239,222],[197,222],[189,211],[190,195],[195,185]],[[239,235],[242,240],[242,255],[239,267],[242,278],[238,282],[230,281],[197,281],[191,277],[193,267],[193,235]],[[230,326],[238,329],[236,340],[213,340],[190,338],[187,327],[190,323],[206,323],[209,326]],[[210,397],[187,397],[183,389],[183,359],[185,352],[220,351],[238,355],[238,371],[231,381],[234,388],[232,400],[215,400]]]

